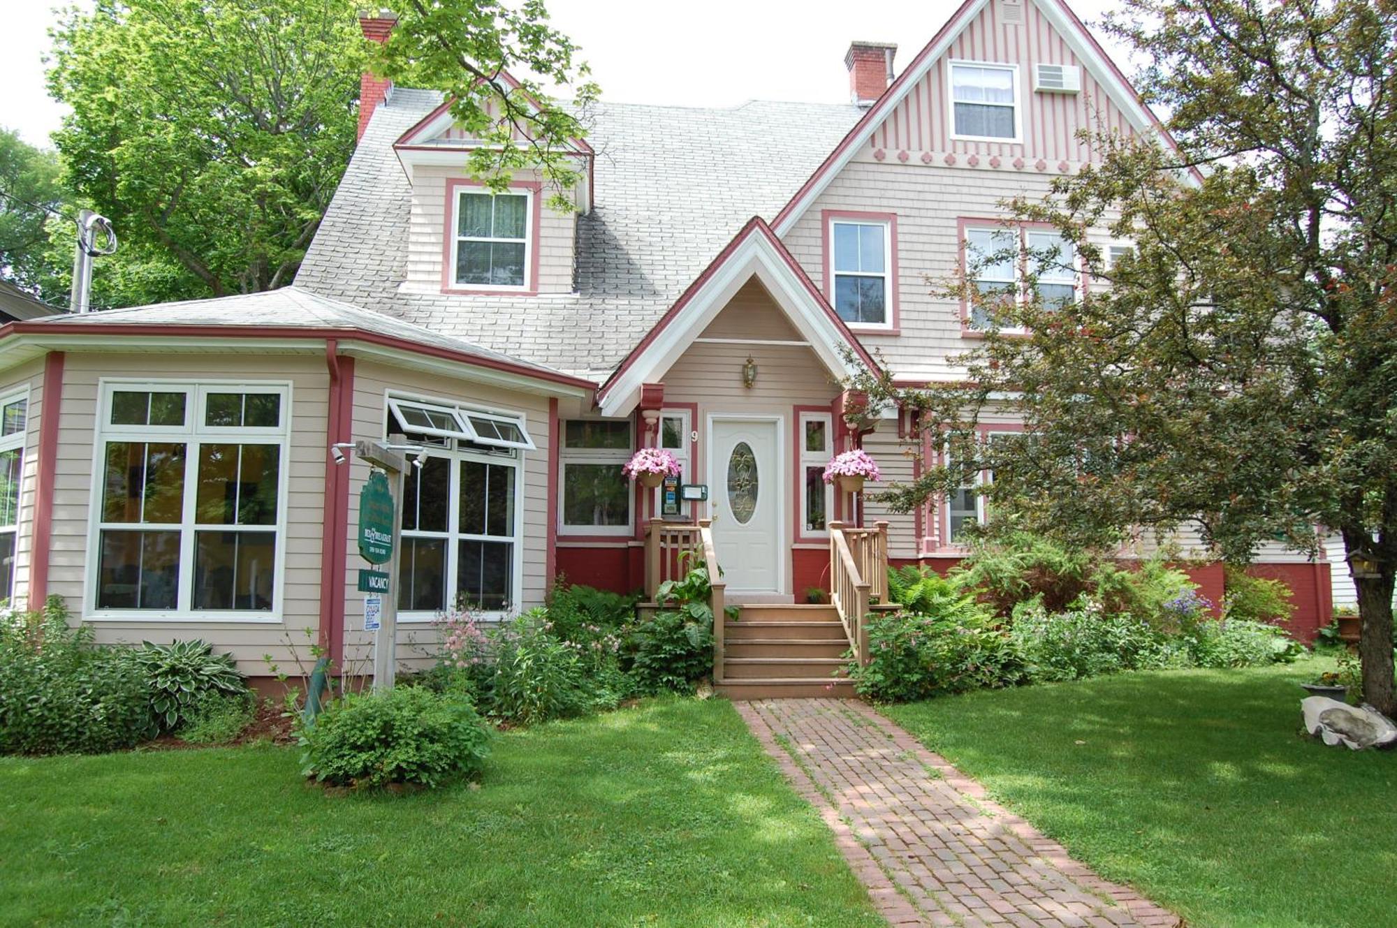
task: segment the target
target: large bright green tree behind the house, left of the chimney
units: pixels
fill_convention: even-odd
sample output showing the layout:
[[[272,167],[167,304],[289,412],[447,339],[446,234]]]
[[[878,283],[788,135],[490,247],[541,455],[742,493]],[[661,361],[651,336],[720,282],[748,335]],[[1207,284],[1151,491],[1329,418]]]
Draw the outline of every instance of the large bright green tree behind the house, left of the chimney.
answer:
[[[137,264],[175,291],[170,263],[214,295],[291,282],[353,150],[353,7],[99,0],[53,38],[67,180]]]

